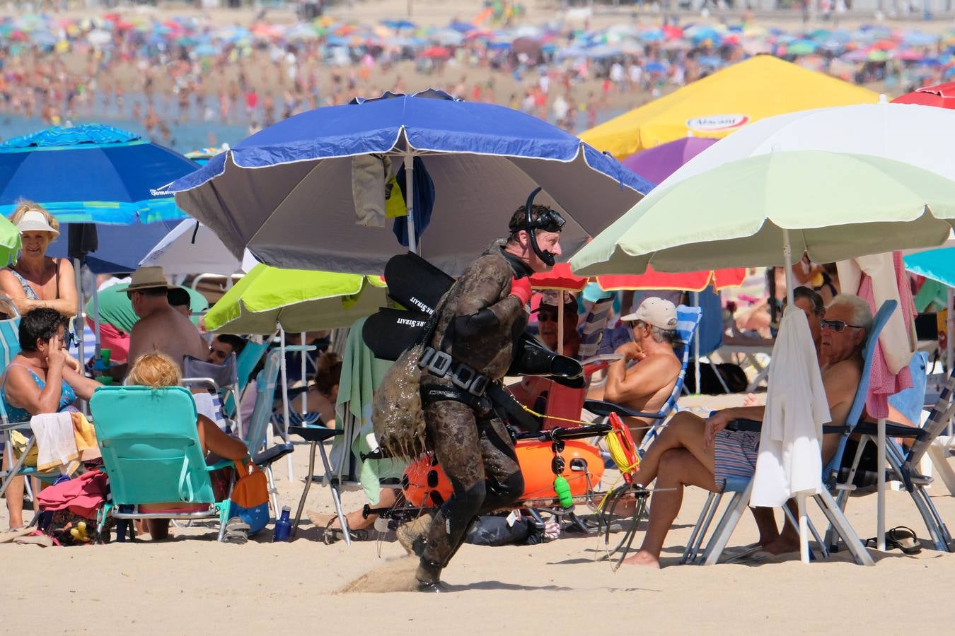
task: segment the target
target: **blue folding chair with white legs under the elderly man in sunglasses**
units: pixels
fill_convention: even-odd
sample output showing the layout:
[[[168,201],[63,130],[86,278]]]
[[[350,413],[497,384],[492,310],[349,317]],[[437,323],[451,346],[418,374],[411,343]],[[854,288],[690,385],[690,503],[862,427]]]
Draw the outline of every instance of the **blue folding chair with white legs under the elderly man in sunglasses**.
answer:
[[[879,312],[876,313],[876,316],[873,319],[872,331],[868,335],[865,346],[862,349],[862,355],[864,357],[862,375],[859,380],[859,386],[856,389],[855,400],[852,402],[852,408],[849,410],[849,415],[846,417],[845,425],[822,427],[823,433],[841,433],[842,437],[839,440],[838,449],[835,455],[822,469],[822,483],[824,486],[822,488],[822,492],[818,495],[815,495],[813,499],[816,501],[816,503],[818,503],[823,514],[825,514],[826,518],[829,520],[829,523],[832,524],[833,530],[838,533],[839,537],[842,538],[843,543],[846,544],[850,552],[852,552],[856,563],[860,565],[873,564],[872,557],[868,552],[865,551],[865,548],[859,541],[859,536],[856,534],[856,531],[851,525],[849,525],[849,522],[846,521],[845,516],[842,514],[842,510],[839,508],[838,503],[836,503],[836,501],[833,499],[829,489],[836,487],[838,471],[842,462],[842,454],[845,451],[845,443],[859,425],[859,418],[862,416],[862,409],[865,406],[866,394],[869,390],[869,375],[872,369],[872,357],[876,350],[876,344],[879,342],[879,334],[881,333],[882,327],[885,326],[885,323],[892,315],[892,312],[895,311],[897,305],[898,303],[895,300],[886,300],[882,303]],[[759,431],[761,430],[761,427],[762,422],[759,421],[734,421],[727,428],[728,430]],[[687,547],[683,552],[683,557],[680,560],[681,564],[691,564],[696,562],[699,549],[706,538],[712,518],[715,516],[723,495],[725,493],[732,493],[732,499],[729,506],[723,513],[723,517],[717,524],[716,529],[713,531],[709,544],[707,544],[703,554],[700,555],[700,563],[702,564],[712,565],[719,561],[720,555],[723,553],[723,548],[725,548],[726,544],[730,541],[730,536],[736,527],[736,523],[739,523],[740,518],[743,516],[743,512],[746,510],[747,504],[750,502],[750,494],[752,491],[752,479],[729,478],[726,481],[726,486],[724,487],[723,492],[710,493],[706,503],[703,504],[703,510],[700,512],[700,517],[697,520],[696,525],[693,527],[692,533],[690,534],[690,541],[688,542]],[[796,523],[796,520],[791,516],[791,513],[786,506],[783,506],[783,512],[790,523]],[[823,556],[827,556],[828,551],[826,549],[825,543],[818,536],[815,528],[812,528],[812,532],[817,543],[820,545],[823,551]]]

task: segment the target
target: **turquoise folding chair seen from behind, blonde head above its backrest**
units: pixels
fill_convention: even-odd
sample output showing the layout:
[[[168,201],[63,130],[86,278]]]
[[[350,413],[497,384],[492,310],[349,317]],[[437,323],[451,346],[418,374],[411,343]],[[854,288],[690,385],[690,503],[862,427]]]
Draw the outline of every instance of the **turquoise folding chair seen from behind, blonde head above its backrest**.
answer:
[[[181,386],[104,386],[90,400],[96,441],[112,500],[98,519],[219,519],[219,541],[229,500],[216,501],[196,427],[196,404]],[[140,512],[148,503],[195,504],[194,511]],[[122,506],[120,508],[120,506]],[[129,506],[129,507],[127,507]]]

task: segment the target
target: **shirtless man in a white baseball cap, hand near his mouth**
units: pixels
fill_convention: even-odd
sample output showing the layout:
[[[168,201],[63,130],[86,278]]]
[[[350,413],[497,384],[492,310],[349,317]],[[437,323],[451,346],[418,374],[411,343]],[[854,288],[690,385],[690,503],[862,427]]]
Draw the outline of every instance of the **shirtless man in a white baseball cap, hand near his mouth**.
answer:
[[[647,297],[637,311],[620,319],[633,330],[633,341],[615,351],[624,358],[607,369],[604,400],[634,411],[655,413],[667,403],[683,366],[673,353],[676,306],[663,298]],[[637,363],[627,368],[631,359]],[[626,418],[638,444],[650,423],[647,418]]]

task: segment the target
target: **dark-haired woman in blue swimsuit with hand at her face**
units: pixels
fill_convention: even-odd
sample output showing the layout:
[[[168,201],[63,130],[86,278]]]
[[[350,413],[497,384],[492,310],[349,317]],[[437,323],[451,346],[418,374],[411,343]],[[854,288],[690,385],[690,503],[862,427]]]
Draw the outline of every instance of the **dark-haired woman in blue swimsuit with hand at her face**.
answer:
[[[66,317],[53,309],[33,309],[20,318],[20,353],[0,380],[0,400],[7,421],[30,421],[42,413],[58,413],[76,398],[89,400],[99,383],[76,373],[63,348]],[[10,458],[4,455],[4,466]],[[35,490],[35,489],[34,489]],[[10,526],[23,525],[23,478],[7,487]]]

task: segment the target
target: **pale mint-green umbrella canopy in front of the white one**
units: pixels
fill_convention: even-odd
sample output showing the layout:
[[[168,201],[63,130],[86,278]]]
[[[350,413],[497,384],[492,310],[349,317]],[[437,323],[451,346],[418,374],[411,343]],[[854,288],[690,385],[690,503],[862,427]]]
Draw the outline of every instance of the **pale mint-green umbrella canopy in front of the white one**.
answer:
[[[713,148],[718,147],[719,144]],[[675,175],[674,175],[675,176]],[[647,195],[571,259],[581,275],[784,265],[939,245],[955,181],[863,154],[760,154]]]

